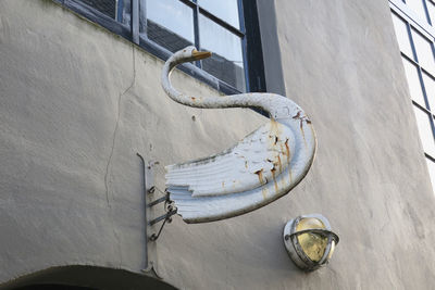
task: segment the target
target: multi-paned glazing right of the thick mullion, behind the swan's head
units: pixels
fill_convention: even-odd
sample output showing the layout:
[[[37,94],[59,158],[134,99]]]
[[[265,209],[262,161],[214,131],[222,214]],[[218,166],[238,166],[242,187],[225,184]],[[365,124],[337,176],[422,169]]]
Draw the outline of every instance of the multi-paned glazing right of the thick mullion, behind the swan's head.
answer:
[[[245,34],[239,25],[238,0],[199,0],[189,4],[179,0],[142,0],[141,3],[146,4],[147,15],[144,37],[171,52],[191,45],[213,52],[210,59],[196,65],[246,91]]]

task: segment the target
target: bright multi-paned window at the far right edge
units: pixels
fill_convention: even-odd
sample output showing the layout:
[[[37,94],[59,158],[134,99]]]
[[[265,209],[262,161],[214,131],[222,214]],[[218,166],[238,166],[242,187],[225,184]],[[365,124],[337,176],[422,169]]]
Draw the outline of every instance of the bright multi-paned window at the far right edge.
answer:
[[[389,0],[432,187],[435,189],[435,3]]]

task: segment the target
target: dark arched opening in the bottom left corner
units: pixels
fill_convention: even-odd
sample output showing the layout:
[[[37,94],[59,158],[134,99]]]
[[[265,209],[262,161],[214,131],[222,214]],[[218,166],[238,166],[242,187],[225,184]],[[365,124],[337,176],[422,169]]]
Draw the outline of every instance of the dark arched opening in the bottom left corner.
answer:
[[[25,275],[7,283],[0,290],[119,290],[162,289],[175,287],[147,275],[125,269],[96,266],[61,266]]]

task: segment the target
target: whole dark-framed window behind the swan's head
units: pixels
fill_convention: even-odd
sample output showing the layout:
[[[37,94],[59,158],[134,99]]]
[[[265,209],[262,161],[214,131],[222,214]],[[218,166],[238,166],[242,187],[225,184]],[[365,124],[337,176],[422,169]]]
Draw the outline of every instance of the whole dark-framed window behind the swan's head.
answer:
[[[256,1],[55,1],[163,60],[191,45],[212,51],[211,58],[182,70],[224,93],[265,90]]]

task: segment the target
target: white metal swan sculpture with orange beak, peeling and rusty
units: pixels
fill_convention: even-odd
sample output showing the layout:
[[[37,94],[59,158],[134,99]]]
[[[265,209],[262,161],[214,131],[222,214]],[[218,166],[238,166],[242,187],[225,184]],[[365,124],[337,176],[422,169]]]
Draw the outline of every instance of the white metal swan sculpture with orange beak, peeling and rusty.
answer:
[[[195,108],[260,108],[270,122],[224,152],[166,166],[166,190],[186,223],[240,215],[288,193],[307,175],[316,140],[310,119],[296,103],[274,93],[190,97],[175,90],[172,70],[209,58],[187,47],[164,64],[162,86],[174,101]]]

